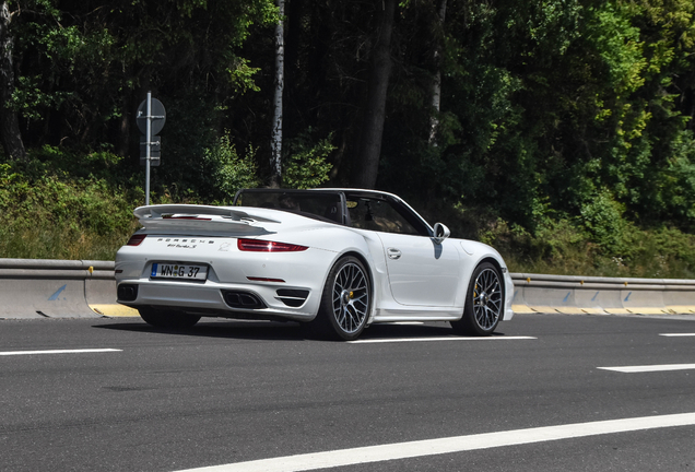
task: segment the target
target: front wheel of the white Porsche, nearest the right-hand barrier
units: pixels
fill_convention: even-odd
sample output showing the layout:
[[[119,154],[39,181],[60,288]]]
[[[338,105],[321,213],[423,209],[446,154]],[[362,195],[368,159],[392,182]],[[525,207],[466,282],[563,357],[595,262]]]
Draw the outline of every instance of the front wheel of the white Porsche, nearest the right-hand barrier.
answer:
[[[505,293],[499,270],[490,262],[475,268],[468,285],[463,317],[451,321],[453,330],[460,334],[491,335],[503,317]]]

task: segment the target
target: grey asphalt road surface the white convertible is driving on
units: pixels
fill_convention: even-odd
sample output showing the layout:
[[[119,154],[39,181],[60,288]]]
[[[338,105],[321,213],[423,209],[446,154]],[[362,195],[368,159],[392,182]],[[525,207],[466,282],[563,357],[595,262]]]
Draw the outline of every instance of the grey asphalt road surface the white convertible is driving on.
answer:
[[[377,326],[363,339],[392,342],[373,343],[305,340],[292,323],[3,320],[0,470],[180,471],[327,451],[329,469],[354,458],[339,471],[691,471],[695,337],[661,334],[692,333],[695,319],[676,316],[517,315],[488,340]],[[645,365],[680,369],[600,368]],[[455,449],[479,446],[436,451],[461,436]],[[390,460],[363,449],[382,445]]]

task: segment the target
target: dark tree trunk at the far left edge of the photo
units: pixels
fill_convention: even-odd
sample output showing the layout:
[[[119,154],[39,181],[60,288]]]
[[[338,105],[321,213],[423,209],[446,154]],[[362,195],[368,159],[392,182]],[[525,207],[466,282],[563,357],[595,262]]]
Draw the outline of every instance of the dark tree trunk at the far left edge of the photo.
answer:
[[[9,158],[25,161],[26,151],[16,111],[8,106],[14,93],[14,64],[12,61],[14,40],[10,32],[11,21],[8,2],[3,1],[0,5],[0,141],[2,141],[2,148]]]

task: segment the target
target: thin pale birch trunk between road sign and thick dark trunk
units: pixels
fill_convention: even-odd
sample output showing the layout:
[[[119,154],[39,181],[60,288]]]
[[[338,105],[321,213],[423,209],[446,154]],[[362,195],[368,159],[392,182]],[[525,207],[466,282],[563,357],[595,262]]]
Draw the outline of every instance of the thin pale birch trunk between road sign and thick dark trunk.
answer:
[[[285,0],[276,0],[280,22],[275,26],[275,95],[273,98],[273,130],[270,142],[270,186],[280,187],[282,180],[282,94],[285,86],[285,40],[284,20]]]

